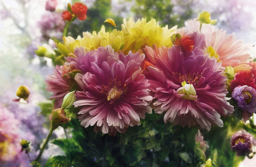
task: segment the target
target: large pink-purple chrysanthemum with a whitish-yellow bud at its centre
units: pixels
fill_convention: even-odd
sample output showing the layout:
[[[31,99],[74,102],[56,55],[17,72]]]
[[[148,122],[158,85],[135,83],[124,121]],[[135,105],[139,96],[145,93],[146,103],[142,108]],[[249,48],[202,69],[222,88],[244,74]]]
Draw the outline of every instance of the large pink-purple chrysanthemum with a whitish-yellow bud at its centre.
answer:
[[[199,124],[207,130],[212,124],[222,127],[220,115],[234,110],[225,99],[227,77],[222,75],[224,68],[202,51],[199,55],[186,57],[181,50],[180,46],[169,50],[159,48],[158,51],[150,47],[145,49],[149,59],[156,61],[156,67],[149,66],[145,73],[157,99],[153,103],[155,112],[166,111],[165,123],[170,121],[189,127]]]

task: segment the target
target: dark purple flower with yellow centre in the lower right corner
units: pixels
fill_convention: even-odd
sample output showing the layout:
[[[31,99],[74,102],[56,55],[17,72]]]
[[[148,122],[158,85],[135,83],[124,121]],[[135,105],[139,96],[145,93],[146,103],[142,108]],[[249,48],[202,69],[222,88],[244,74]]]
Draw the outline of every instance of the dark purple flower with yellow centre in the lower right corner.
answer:
[[[239,130],[231,137],[231,149],[236,151],[238,156],[244,156],[254,151],[256,139],[245,130]]]

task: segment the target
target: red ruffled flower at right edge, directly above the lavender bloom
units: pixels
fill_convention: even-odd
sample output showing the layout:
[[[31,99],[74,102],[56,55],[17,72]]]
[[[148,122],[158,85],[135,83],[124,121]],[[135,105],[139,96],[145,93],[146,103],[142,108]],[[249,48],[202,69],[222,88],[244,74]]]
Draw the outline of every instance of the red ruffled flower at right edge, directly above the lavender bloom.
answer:
[[[233,91],[235,87],[239,85],[247,85],[248,87],[252,87],[256,89],[255,85],[255,77],[252,71],[240,71],[234,76],[234,79],[230,83],[230,90]]]

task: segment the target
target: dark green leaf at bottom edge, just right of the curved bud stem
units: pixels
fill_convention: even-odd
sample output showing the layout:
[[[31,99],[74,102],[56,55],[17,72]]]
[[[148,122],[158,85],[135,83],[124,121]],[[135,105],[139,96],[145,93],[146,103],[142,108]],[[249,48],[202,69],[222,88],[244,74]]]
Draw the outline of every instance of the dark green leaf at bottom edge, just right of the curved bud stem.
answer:
[[[66,156],[55,156],[52,158],[49,158],[44,165],[44,167],[70,167],[71,164],[68,162],[68,159]]]

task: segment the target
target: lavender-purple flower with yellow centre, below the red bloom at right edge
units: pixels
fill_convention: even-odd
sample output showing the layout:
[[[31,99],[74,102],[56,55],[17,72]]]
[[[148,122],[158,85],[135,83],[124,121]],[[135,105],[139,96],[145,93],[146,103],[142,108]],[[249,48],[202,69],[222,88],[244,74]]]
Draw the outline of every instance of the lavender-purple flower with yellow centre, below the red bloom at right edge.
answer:
[[[234,98],[238,106],[242,111],[248,111],[249,113],[254,113],[256,111],[256,91],[252,87],[247,85],[238,86],[234,88],[232,92],[232,98]]]

